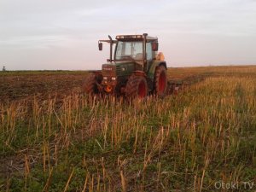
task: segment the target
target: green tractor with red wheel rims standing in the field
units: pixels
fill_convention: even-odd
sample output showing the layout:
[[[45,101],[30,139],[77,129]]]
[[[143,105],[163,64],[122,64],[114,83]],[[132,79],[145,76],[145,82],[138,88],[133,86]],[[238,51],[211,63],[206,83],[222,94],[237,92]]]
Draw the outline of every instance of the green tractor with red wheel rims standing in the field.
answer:
[[[165,96],[167,88],[166,61],[158,53],[158,38],[143,35],[118,35],[115,40],[99,40],[110,44],[108,63],[102,70],[90,71],[83,90],[89,95],[113,95],[144,98],[149,94]],[[114,51],[113,51],[113,45]]]

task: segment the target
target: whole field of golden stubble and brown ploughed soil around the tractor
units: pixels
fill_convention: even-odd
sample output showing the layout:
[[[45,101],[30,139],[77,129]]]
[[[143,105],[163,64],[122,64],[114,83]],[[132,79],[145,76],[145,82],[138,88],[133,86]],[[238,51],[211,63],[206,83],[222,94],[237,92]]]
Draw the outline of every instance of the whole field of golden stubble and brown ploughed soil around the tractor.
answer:
[[[86,75],[0,73],[0,191],[256,190],[256,66],[169,68],[182,90],[133,103]]]

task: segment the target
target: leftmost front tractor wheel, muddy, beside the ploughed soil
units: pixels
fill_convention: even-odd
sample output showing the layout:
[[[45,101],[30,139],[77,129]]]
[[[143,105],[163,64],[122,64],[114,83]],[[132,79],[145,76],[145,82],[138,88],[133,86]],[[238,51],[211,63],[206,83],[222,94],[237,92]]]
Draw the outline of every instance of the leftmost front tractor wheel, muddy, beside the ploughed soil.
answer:
[[[102,74],[101,73],[90,73],[89,76],[84,79],[82,84],[82,90],[88,95],[96,95],[99,93],[97,84],[102,83]]]

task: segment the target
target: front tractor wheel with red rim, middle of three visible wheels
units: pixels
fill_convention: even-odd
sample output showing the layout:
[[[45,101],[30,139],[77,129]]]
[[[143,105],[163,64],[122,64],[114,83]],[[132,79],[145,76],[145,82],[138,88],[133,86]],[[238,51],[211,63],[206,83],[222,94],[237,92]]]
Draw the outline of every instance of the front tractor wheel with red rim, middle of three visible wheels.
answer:
[[[125,87],[125,97],[128,99],[148,96],[148,83],[145,77],[131,75]]]

